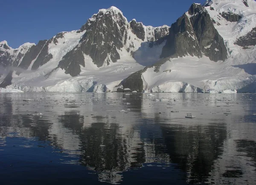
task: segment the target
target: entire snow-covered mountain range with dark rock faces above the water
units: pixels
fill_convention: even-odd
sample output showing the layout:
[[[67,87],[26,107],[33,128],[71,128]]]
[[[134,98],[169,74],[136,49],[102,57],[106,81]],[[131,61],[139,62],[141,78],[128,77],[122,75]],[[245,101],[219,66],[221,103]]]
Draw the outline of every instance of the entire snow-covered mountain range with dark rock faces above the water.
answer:
[[[100,9],[79,30],[20,46],[19,57],[20,48],[1,42],[0,87],[62,92],[124,88],[254,92],[255,45],[254,0],[194,3],[171,27],[144,26],[135,19],[128,22],[112,6]],[[8,66],[18,68],[8,70]]]

